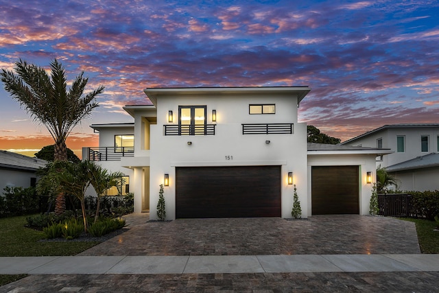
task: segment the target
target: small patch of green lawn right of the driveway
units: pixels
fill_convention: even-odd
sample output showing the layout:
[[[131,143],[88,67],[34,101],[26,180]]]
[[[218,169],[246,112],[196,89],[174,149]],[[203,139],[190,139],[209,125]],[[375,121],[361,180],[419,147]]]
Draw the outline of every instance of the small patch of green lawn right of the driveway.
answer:
[[[439,231],[434,231],[438,224],[434,221],[403,218],[414,222],[421,253],[439,253]]]

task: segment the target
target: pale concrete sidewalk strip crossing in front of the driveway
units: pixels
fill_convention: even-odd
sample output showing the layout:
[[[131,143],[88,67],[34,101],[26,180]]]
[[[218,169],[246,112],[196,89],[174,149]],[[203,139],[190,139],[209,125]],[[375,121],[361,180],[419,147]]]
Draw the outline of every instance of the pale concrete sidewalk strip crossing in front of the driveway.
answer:
[[[437,272],[439,255],[0,257],[0,274]]]

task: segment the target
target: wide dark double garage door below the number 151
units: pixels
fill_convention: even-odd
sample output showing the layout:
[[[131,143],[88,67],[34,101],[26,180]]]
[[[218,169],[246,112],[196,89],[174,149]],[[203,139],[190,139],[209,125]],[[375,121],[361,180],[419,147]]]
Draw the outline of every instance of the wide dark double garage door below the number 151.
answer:
[[[176,218],[281,217],[281,166],[176,167]]]

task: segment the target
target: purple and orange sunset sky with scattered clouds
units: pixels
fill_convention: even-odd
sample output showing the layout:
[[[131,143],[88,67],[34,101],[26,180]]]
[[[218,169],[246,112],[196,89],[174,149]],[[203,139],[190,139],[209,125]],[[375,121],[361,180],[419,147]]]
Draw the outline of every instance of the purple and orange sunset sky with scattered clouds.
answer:
[[[342,139],[385,124],[439,123],[439,1],[0,0],[0,68],[58,58],[106,91],[90,124],[132,122],[166,86],[310,86],[299,120]],[[0,85],[0,149],[53,144]]]

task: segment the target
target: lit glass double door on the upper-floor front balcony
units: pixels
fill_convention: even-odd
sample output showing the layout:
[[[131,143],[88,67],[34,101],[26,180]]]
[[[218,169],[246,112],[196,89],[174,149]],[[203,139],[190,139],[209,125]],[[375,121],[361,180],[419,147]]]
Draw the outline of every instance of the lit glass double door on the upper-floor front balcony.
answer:
[[[180,135],[205,134],[206,106],[179,106]]]

